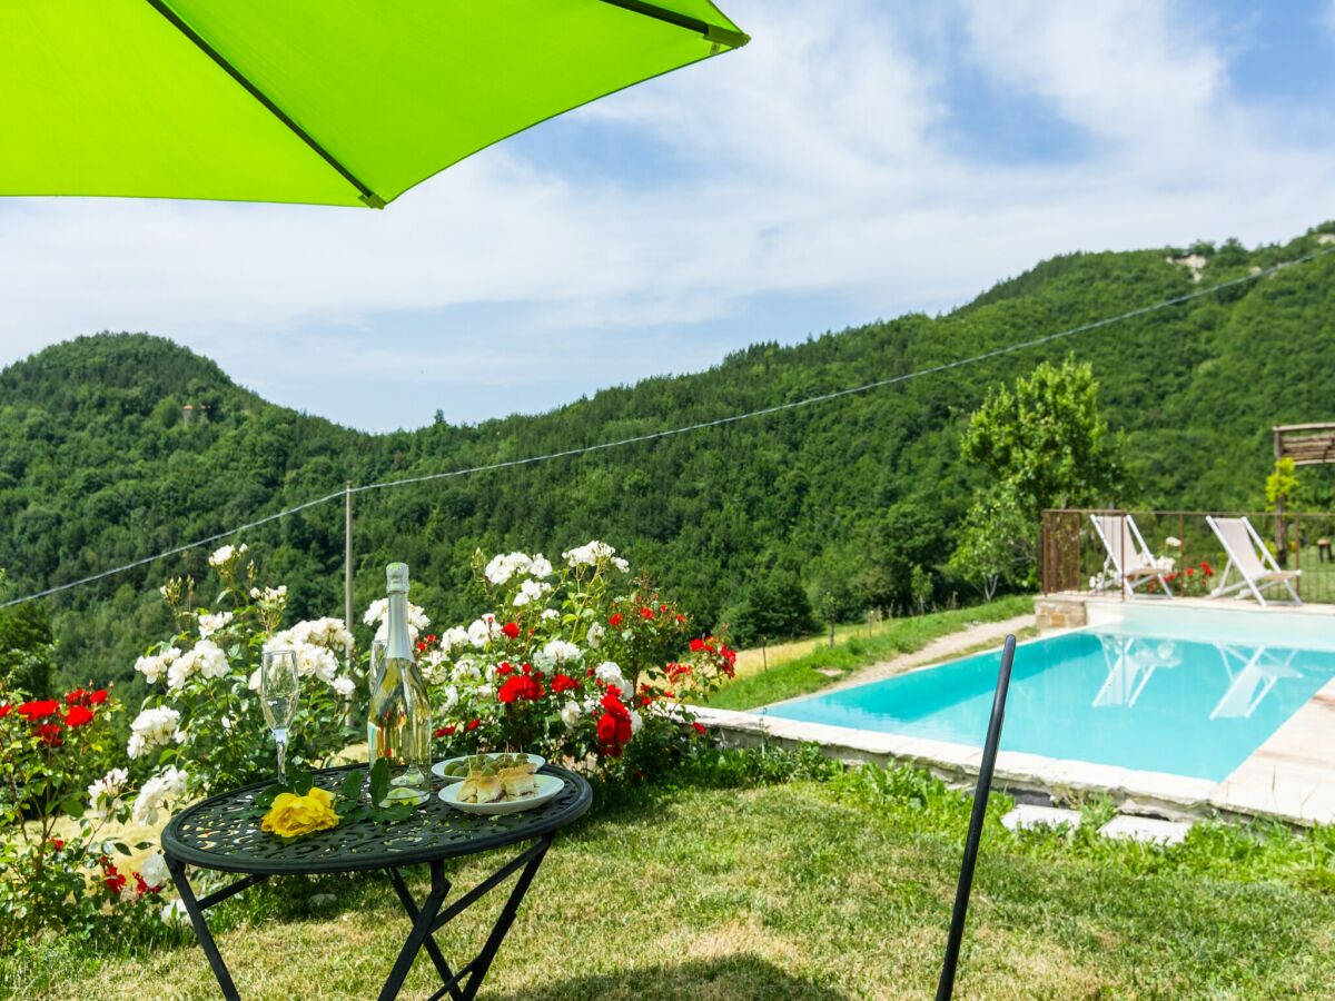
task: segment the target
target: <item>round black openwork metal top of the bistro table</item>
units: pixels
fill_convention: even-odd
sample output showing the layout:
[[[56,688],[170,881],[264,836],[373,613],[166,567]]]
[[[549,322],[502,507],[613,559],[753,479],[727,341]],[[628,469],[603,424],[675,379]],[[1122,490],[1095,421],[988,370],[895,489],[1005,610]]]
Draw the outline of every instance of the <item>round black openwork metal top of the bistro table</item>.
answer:
[[[315,782],[336,793],[350,769],[364,771],[366,765],[316,771]],[[585,814],[593,790],[583,778],[554,765],[545,765],[541,771],[561,778],[565,789],[542,806],[522,813],[502,817],[463,813],[441,801],[435,793],[443,783],[435,783],[426,803],[402,821],[344,822],[286,844],[262,831],[259,818],[252,815],[255,795],[272,785],[272,779],[266,779],[212,795],[178,813],[163,830],[162,846],[168,858],[188,865],[264,874],[348,873],[469,856],[550,834]]]

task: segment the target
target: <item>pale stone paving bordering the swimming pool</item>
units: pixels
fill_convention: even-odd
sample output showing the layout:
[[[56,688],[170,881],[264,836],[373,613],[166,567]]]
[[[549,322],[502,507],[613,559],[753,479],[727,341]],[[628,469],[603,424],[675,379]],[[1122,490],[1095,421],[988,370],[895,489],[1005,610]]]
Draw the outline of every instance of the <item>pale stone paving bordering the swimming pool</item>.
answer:
[[[1105,607],[1095,607],[1096,603]],[[1116,607],[1121,602],[1095,599],[1089,605],[1091,621],[1109,621],[1116,615]],[[1176,607],[1169,607],[1167,602],[1157,605],[1163,613],[1155,614],[1165,615],[1197,605],[1208,607],[1211,615],[1227,617],[1230,633],[1246,631],[1247,618],[1254,614],[1287,613],[1300,615],[1302,619],[1294,622],[1300,622],[1304,627],[1315,626],[1324,630],[1330,626],[1331,634],[1335,635],[1332,606],[1272,610],[1256,609],[1242,602],[1191,599],[1175,603]],[[1287,625],[1290,621],[1275,622]],[[1001,623],[988,625],[991,629],[985,633],[971,635],[971,630],[965,630],[956,634],[959,639],[951,646],[963,650],[987,641],[996,641],[1000,646],[996,626]],[[1016,627],[1015,622],[1004,625]],[[1032,625],[1032,619],[1020,625]],[[1065,630],[1044,635],[1060,631]],[[881,670],[868,669],[860,673],[861,677],[849,678],[838,687],[901,674],[904,670],[922,670],[944,659],[952,658],[949,654],[939,654],[912,666],[894,665],[894,669],[890,669],[889,665],[881,665],[877,666]],[[947,781],[976,778],[983,757],[980,747],[963,743],[781,719],[768,715],[764,709],[738,713],[705,707],[698,710],[698,717],[706,726],[717,729],[730,743],[798,746],[814,742],[825,747],[832,757],[844,761],[877,765],[913,763],[929,769]],[[1335,823],[1335,679],[1323,686],[1223,782],[1005,750],[997,754],[995,782],[1015,791],[1047,794],[1063,802],[1104,794],[1111,797],[1123,813],[1173,819],[1226,815],[1267,817],[1304,826]]]

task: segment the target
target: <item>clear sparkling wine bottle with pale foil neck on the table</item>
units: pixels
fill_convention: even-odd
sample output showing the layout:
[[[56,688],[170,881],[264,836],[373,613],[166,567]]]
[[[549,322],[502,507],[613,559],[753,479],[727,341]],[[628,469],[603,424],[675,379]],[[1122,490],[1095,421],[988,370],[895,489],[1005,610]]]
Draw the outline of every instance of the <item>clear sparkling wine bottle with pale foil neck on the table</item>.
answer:
[[[384,569],[390,601],[384,658],[371,690],[366,722],[370,765],[388,761],[390,794],[380,805],[425,802],[431,774],[431,703],[409,635],[409,567]]]

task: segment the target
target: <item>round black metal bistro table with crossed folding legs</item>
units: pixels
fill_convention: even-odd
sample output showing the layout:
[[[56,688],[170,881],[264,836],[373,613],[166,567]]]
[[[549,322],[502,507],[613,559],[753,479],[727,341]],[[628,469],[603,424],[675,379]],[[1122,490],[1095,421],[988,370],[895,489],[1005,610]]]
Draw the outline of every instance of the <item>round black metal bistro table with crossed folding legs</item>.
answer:
[[[324,769],[315,773],[315,782],[328,790],[336,790],[346,773],[364,765],[338,769]],[[271,876],[351,873],[367,869],[384,869],[390,882],[403,904],[413,930],[399,950],[390,970],[380,1000],[396,997],[403,986],[403,978],[413,968],[413,961],[425,946],[442,986],[433,998],[450,997],[453,1001],[469,1001],[478,993],[482,980],[505,940],[519,902],[533,882],[547,848],[558,830],[573,823],[585,814],[593,802],[593,790],[579,775],[566,769],[545,765],[542,774],[555,775],[565,787],[553,799],[522,813],[502,817],[462,813],[447,806],[435,795],[413,814],[392,823],[372,823],[358,821],[308,834],[295,841],[283,842],[259,829],[254,815],[255,795],[272,785],[271,781],[256,782],[230,793],[210,797],[178,813],[163,830],[162,848],[167,857],[172,882],[190,913],[199,945],[214,968],[218,985],[227,998],[239,998],[236,985],[218,952],[218,944],[204,921],[204,912],[215,904],[227,900],[247,886],[267,880]],[[451,779],[453,781],[453,779]],[[531,841],[517,856],[505,862],[491,876],[467,893],[443,908],[450,881],[445,878],[445,861],[479,852],[519,845]],[[409,892],[402,869],[409,865],[426,864],[431,869],[431,889],[418,904]],[[224,873],[240,873],[243,878],[215,890],[204,897],[195,897],[186,877],[186,866],[214,869]],[[469,906],[481,900],[489,890],[519,873],[510,898],[506,901],[486,942],[473,960],[458,970],[450,968],[435,942],[434,934],[447,921],[458,917]]]

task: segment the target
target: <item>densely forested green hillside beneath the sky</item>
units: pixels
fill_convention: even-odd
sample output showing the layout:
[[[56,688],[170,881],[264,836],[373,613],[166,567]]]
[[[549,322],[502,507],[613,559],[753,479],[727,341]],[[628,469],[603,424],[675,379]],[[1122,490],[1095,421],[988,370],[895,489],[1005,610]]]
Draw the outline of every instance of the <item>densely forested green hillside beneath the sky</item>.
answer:
[[[1335,226],[1320,227],[1331,232]],[[901,375],[1181,295],[1323,247],[1077,254],[1003,282],[948,315],[906,315],[796,347],[756,344],[696,375],[602,391],[538,416],[367,435],[266,403],[171,342],[96,335],[0,372],[0,566],[11,594],[125,563],[342,487],[559,451]],[[356,499],[358,606],[406,559],[414,598],[473,610],[477,547],[561,549],[602,538],[706,622],[838,581],[846,615],[908,601],[908,567],[937,598],[980,486],[960,432],[987,388],[1073,352],[1092,363],[1131,476],[1109,502],[1263,503],[1270,427],[1335,419],[1335,256],[1040,348],[655,442]],[[187,408],[188,407],[188,408]],[[1306,506],[1328,505],[1326,468]],[[244,537],[296,614],[342,614],[343,510],[328,503]],[[198,550],[48,599],[63,671],[127,677],[166,627],[156,587],[202,575]],[[754,625],[754,623],[750,623]]]

